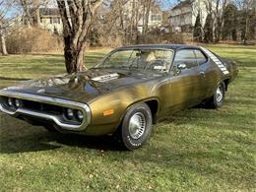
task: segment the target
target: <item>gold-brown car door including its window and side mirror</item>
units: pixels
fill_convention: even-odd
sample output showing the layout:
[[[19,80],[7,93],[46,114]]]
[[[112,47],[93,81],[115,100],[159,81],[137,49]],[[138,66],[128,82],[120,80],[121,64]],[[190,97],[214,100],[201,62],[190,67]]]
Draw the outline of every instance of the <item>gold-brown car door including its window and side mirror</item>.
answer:
[[[172,109],[189,107],[202,96],[202,75],[194,49],[177,50],[170,70],[170,101]]]

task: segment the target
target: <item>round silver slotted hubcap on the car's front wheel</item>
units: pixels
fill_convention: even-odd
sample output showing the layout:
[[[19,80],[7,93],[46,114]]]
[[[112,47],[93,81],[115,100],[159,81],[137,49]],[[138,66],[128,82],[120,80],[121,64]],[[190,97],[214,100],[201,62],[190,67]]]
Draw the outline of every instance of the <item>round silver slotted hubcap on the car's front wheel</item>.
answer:
[[[137,112],[135,113],[129,122],[129,132],[130,136],[137,140],[141,138],[146,129],[146,118],[143,113]]]

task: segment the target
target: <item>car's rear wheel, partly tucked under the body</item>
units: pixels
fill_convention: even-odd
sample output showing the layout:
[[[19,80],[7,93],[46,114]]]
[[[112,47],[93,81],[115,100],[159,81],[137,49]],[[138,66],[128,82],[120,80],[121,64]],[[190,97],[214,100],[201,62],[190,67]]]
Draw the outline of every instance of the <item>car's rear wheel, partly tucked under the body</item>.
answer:
[[[225,95],[225,85],[224,82],[221,82],[214,93],[214,96],[209,101],[209,104],[212,108],[221,108],[224,105],[224,95]]]

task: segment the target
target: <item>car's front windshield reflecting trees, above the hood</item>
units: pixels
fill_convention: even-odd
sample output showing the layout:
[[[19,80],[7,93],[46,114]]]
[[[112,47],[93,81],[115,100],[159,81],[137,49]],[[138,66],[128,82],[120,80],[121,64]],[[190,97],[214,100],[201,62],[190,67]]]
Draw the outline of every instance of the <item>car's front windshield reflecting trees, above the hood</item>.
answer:
[[[172,50],[130,49],[110,53],[96,68],[123,68],[129,70],[168,71],[173,57]]]

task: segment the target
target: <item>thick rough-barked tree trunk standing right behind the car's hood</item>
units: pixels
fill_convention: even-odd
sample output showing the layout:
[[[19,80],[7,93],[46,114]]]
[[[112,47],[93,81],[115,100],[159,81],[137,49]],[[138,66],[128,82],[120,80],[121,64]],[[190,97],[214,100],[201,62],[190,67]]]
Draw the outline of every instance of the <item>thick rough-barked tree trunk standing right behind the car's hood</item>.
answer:
[[[103,0],[56,0],[63,24],[64,56],[68,73],[83,70],[84,50],[96,8]]]

